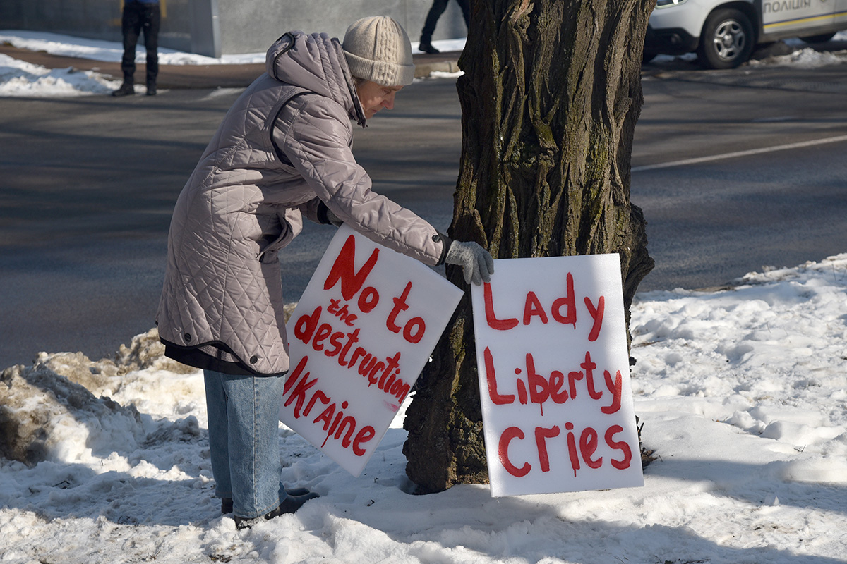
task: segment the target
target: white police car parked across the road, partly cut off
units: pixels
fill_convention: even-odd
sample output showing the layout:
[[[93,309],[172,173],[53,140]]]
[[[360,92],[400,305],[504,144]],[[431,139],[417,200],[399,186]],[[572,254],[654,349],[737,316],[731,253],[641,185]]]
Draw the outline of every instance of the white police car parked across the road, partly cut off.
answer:
[[[644,58],[696,52],[705,67],[734,68],[757,44],[828,41],[845,29],[847,0],[657,0]]]

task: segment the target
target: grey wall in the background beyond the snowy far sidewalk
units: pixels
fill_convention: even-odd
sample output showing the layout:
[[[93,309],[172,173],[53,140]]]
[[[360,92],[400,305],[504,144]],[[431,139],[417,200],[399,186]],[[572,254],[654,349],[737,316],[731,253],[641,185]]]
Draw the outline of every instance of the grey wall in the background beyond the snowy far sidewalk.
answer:
[[[430,0],[160,0],[159,45],[204,55],[263,52],[288,30],[343,37],[363,16],[389,15],[420,38]],[[121,41],[123,0],[0,0],[0,29],[52,31]],[[217,8],[217,18],[213,15]],[[462,11],[451,2],[433,39],[467,36]],[[215,48],[217,47],[217,52]]]

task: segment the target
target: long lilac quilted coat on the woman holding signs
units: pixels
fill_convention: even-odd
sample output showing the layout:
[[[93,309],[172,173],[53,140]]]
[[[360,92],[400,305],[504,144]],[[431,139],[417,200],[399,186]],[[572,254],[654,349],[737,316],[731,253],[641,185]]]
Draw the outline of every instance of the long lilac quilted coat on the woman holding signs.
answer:
[[[174,358],[202,352],[276,375],[289,367],[277,253],[301,231],[302,216],[318,221],[325,205],[359,233],[430,266],[447,242],[374,194],[353,158],[351,120],[364,126],[365,118],[337,39],[285,34],[268,50],[266,68],[180,193],[156,320],[159,337],[180,353]]]

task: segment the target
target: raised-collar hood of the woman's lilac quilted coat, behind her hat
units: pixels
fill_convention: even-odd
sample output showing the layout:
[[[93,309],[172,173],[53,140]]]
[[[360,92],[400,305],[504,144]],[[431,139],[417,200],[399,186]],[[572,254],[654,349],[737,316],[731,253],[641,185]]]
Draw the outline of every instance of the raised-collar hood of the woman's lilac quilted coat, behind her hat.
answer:
[[[364,112],[344,50],[334,37],[325,33],[307,35],[302,31],[288,31],[268,49],[265,70],[280,82],[300,86],[337,102],[364,126]]]

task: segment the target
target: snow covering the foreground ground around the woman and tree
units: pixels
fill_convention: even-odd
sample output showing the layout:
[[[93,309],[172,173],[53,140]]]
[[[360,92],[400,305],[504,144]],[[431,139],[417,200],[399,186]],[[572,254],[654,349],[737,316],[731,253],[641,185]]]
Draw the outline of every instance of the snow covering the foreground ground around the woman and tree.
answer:
[[[737,282],[636,298],[644,487],[412,496],[401,410],[359,478],[280,426],[283,480],[321,497],[243,531],[213,496],[202,375],[155,331],[114,361],[42,354],[0,386],[32,460],[0,459],[0,562],[844,562],[847,254]]]

